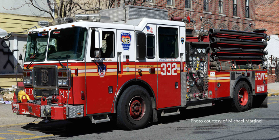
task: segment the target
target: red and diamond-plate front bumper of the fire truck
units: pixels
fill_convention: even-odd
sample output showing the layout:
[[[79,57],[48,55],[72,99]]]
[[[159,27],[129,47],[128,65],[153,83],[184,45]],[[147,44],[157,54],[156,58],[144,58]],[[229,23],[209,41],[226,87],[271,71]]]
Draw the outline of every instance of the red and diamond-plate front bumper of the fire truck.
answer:
[[[36,117],[46,117],[43,114],[43,110],[48,108],[51,110],[51,114],[47,117],[51,117],[53,120],[65,120],[69,118],[83,117],[83,105],[72,106],[69,105],[69,115],[66,115],[66,106],[59,107],[58,104],[41,105],[27,102],[12,102],[13,113],[18,115],[33,115]]]

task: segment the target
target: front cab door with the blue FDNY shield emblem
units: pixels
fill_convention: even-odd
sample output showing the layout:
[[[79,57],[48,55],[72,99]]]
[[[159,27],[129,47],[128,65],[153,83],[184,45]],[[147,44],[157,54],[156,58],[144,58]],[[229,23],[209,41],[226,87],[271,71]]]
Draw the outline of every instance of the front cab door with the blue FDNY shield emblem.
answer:
[[[116,29],[89,29],[85,72],[87,114],[111,111],[117,88],[116,48]]]

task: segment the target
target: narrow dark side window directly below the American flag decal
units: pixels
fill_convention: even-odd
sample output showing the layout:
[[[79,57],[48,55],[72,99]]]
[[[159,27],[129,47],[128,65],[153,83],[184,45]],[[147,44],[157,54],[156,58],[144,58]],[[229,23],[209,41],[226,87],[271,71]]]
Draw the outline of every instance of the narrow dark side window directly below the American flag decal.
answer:
[[[155,57],[155,37],[153,34],[146,35],[146,58]]]

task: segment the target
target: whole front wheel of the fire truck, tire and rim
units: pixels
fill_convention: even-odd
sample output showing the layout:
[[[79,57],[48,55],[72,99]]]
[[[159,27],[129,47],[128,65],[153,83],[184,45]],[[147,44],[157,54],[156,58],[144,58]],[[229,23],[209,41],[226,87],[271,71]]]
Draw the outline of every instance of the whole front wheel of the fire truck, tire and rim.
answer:
[[[117,125],[135,130],[147,125],[152,113],[151,98],[146,89],[133,85],[121,95],[117,105]]]

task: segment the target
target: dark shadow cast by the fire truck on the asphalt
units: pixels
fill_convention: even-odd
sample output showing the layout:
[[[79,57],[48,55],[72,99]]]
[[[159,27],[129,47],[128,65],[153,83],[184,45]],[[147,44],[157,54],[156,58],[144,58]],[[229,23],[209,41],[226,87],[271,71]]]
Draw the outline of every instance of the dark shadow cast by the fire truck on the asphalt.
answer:
[[[216,115],[221,113],[228,113],[229,110],[225,106],[219,105],[217,107],[203,107],[198,109],[181,109],[180,115],[161,117],[158,115],[157,123],[148,123],[147,127],[158,124],[167,124],[178,122],[181,120],[193,119],[198,117],[205,117],[209,115]],[[110,133],[113,130],[118,130],[115,121],[92,124],[89,118],[82,118],[77,120],[51,121],[51,123],[40,122],[39,124],[29,124],[23,129],[30,131],[39,131],[45,134],[60,135],[60,137],[74,137],[93,133]]]

